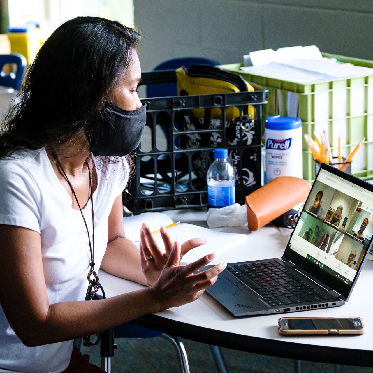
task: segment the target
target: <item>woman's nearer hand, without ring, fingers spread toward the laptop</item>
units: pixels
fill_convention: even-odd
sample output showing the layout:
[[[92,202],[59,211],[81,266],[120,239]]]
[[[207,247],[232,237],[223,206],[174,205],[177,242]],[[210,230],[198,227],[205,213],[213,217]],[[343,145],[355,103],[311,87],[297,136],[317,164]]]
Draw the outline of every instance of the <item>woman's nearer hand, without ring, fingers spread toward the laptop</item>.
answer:
[[[166,265],[154,285],[150,287],[153,296],[159,301],[162,310],[190,303],[198,299],[206,288],[214,285],[217,275],[227,266],[219,263],[216,266],[197,274],[215,257],[214,253],[206,255],[186,266],[179,265],[180,243],[176,239]]]

